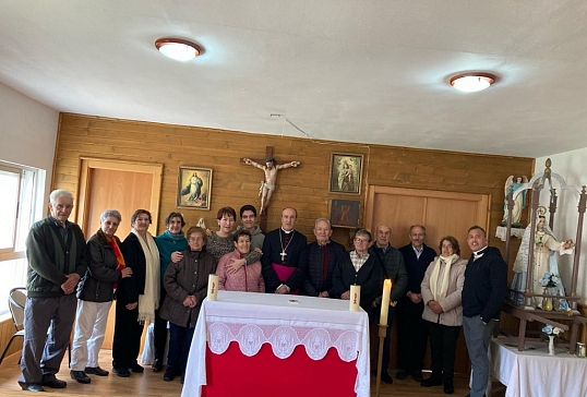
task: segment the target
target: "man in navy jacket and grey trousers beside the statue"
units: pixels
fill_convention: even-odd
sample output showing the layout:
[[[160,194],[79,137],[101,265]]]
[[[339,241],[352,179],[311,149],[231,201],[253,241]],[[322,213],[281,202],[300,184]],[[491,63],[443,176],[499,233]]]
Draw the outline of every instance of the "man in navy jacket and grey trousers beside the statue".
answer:
[[[472,365],[469,396],[481,397],[489,380],[487,352],[491,334],[507,293],[507,264],[500,250],[487,245],[487,234],[480,226],[469,228],[467,243],[472,255],[463,286],[463,329]]]

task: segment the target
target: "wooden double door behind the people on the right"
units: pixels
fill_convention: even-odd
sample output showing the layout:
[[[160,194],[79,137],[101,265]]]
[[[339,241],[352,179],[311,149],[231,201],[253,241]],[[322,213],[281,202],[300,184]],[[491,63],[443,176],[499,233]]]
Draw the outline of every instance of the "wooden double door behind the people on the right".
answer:
[[[488,194],[454,193],[417,189],[368,187],[366,201],[366,228],[375,231],[379,225],[392,228],[391,243],[400,248],[409,243],[409,227],[423,225],[427,230],[426,243],[439,252],[440,239],[451,234],[460,245],[460,256],[471,254],[467,245],[467,230],[479,225],[488,230]],[[395,323],[392,326],[392,366],[396,362]],[[430,349],[424,366],[430,369]],[[470,361],[465,337],[460,333],[457,341],[455,372],[469,373]]]

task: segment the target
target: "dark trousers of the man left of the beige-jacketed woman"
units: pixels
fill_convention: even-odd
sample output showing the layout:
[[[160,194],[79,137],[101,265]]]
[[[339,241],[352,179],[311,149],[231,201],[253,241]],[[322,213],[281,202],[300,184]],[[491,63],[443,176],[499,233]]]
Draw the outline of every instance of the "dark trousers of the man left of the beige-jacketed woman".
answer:
[[[411,374],[424,366],[428,335],[422,320],[424,304],[402,298],[395,308],[397,320],[397,368]]]

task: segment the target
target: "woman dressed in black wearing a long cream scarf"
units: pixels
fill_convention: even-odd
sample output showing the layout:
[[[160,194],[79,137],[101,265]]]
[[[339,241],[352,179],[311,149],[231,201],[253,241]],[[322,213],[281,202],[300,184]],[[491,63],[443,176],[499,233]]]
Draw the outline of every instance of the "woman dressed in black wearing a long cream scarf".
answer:
[[[159,306],[159,250],[148,232],[152,221],[148,210],[136,209],[131,216],[131,232],[120,245],[127,266],[132,268],[132,277],[120,282],[116,304],[112,372],[122,377],[131,371],[144,371],[136,362],[143,325],[155,320]]]

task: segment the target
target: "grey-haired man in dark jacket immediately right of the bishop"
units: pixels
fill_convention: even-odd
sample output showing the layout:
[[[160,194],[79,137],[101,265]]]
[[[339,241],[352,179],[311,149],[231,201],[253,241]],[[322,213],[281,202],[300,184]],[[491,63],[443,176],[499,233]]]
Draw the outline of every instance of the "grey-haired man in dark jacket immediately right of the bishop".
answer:
[[[309,297],[332,298],[334,297],[332,275],[336,264],[346,254],[343,244],[331,240],[331,221],[319,218],[314,224],[316,241],[306,248],[306,261],[303,262],[303,294]]]

